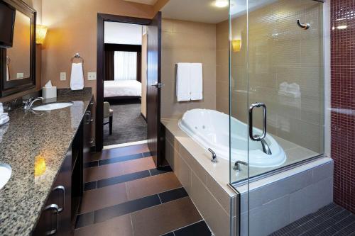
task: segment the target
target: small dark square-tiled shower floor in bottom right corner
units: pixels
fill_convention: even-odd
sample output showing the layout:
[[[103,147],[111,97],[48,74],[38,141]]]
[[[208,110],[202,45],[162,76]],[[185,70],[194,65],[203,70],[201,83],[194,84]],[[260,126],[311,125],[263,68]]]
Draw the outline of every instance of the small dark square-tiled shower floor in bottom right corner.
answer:
[[[271,236],[281,235],[355,235],[355,215],[332,203],[271,234]]]

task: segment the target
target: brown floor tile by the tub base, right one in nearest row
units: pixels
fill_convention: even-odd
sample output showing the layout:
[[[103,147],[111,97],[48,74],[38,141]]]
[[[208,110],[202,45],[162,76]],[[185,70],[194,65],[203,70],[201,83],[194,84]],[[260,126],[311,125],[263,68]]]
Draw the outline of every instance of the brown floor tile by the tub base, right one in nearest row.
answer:
[[[135,236],[156,236],[202,220],[189,197],[131,213]]]

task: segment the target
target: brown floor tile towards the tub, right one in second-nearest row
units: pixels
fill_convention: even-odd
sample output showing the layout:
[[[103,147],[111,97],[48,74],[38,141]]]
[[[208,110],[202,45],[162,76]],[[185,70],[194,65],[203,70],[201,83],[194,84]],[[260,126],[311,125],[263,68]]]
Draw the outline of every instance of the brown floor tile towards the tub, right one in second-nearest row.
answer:
[[[129,201],[150,196],[170,189],[178,189],[182,185],[173,172],[158,174],[148,178],[126,182]]]

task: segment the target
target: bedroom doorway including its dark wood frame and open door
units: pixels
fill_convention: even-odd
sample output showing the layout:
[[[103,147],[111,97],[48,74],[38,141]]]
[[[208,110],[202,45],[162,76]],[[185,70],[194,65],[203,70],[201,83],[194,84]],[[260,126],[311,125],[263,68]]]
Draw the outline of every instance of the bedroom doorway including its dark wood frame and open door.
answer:
[[[159,167],[161,13],[97,23],[96,150],[146,142]]]

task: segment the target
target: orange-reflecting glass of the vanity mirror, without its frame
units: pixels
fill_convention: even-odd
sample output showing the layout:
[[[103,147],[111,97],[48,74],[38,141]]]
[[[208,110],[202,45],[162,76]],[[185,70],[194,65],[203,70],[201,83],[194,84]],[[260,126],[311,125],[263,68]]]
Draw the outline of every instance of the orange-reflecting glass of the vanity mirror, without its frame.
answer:
[[[6,50],[6,81],[30,77],[31,18],[16,10],[13,45]]]

